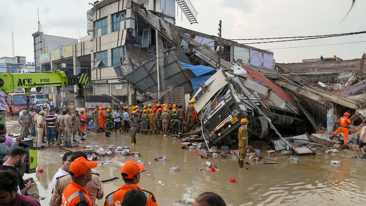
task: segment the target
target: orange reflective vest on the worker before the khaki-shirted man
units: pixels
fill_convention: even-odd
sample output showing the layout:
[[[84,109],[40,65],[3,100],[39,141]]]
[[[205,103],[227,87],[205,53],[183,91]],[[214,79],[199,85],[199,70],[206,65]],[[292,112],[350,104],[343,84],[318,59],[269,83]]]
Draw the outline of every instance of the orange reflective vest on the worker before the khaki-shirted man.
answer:
[[[71,181],[62,193],[61,206],[93,206],[88,190]]]

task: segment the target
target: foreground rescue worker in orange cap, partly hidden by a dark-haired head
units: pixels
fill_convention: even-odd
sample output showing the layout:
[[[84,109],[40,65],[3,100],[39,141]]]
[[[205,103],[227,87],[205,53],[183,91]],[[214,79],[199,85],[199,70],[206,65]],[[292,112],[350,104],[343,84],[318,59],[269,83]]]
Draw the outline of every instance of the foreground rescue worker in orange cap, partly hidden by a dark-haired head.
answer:
[[[137,184],[140,182],[140,172],[145,170],[143,164],[137,164],[134,160],[125,162],[121,167],[121,175],[125,185],[122,185],[119,190],[112,192],[106,196],[104,206],[121,206],[123,197],[128,190],[141,190],[147,198],[146,206],[158,206],[153,193],[142,190]]]

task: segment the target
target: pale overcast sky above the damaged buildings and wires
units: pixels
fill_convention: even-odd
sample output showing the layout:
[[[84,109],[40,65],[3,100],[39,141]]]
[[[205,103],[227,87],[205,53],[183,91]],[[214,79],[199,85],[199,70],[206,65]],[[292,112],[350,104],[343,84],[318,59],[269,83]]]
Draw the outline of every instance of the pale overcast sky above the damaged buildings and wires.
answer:
[[[12,56],[13,32],[15,55],[34,62],[32,33],[38,30],[37,8],[45,34],[77,39],[87,35],[86,11],[92,8],[89,2],[93,0],[0,0],[0,57]],[[366,31],[365,0],[356,0],[343,21],[352,0],[191,0],[191,3],[198,13],[198,24],[190,24],[175,7],[176,25],[217,36],[222,20],[225,39]],[[302,62],[320,55],[357,59],[366,52],[366,34],[249,46],[271,50],[276,63]]]

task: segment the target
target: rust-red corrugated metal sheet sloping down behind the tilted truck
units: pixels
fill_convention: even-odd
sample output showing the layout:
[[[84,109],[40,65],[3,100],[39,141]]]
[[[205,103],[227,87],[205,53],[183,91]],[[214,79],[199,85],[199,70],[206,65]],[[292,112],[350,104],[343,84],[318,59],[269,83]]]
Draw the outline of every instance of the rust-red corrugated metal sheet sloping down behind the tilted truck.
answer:
[[[253,69],[252,67],[245,65],[243,63],[240,63],[240,66],[245,69],[248,73],[248,77],[252,79],[253,81],[260,82],[263,86],[271,88],[271,90],[279,96],[281,99],[286,101],[287,103],[290,103],[291,106],[295,109],[299,109],[299,106],[296,104],[295,100],[284,90],[282,90],[277,84],[275,84],[273,81],[268,79],[264,74],[258,72],[257,70]],[[264,95],[261,95],[264,98],[266,98]],[[270,100],[268,100],[270,101]]]

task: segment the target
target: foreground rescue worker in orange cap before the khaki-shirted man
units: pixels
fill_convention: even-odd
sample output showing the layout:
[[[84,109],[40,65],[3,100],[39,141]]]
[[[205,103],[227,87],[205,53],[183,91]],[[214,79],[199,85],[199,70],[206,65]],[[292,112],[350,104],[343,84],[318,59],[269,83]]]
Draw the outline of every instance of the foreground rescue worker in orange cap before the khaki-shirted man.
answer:
[[[88,161],[84,157],[76,158],[71,162],[69,173],[72,181],[62,193],[62,206],[93,206],[85,186],[92,180],[91,169],[97,164],[96,161]]]

